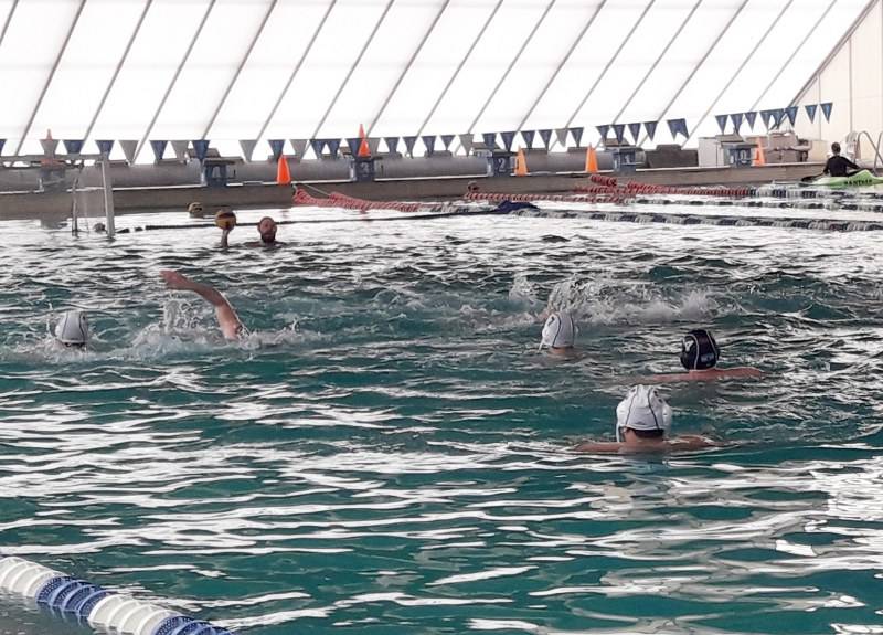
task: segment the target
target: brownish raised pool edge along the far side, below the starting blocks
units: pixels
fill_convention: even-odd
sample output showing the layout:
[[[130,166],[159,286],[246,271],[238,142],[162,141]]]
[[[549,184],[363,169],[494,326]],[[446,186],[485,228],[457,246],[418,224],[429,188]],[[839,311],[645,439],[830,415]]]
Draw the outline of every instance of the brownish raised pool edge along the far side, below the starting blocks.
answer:
[[[821,172],[821,163],[779,163],[752,168],[664,168],[638,170],[618,174],[621,180],[668,186],[754,186],[772,181],[799,181]],[[535,173],[526,177],[443,177],[430,179],[390,179],[370,183],[350,181],[308,182],[315,195],[336,191],[375,201],[450,200],[466,192],[467,183],[476,181],[482,192],[500,193],[564,193],[578,186],[589,184],[585,172]],[[0,220],[58,219],[71,213],[70,192],[4,192],[0,193]],[[115,188],[117,214],[127,212],[170,210],[181,211],[200,201],[206,212],[214,208],[280,209],[291,204],[291,188],[275,183],[233,184],[225,188],[173,186],[151,188]],[[92,212],[89,215],[95,215]]]

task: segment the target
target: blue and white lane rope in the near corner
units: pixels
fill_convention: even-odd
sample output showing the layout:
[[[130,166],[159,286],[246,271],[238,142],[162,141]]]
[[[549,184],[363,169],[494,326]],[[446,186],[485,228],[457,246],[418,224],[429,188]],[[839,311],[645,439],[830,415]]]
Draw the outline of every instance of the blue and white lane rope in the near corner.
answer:
[[[0,558],[0,591],[120,635],[234,635],[162,606],[106,591],[22,558]]]

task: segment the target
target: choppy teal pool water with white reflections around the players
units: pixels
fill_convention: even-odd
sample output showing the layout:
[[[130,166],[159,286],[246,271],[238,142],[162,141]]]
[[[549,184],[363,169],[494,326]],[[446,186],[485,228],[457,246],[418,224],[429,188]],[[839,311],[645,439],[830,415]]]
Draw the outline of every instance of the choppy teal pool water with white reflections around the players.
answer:
[[[249,635],[883,631],[883,236],[334,218],[226,253],[2,224],[4,553]],[[581,360],[536,353],[547,305]],[[91,352],[46,336],[72,306]],[[731,445],[571,452],[695,326],[768,373],[664,389]]]

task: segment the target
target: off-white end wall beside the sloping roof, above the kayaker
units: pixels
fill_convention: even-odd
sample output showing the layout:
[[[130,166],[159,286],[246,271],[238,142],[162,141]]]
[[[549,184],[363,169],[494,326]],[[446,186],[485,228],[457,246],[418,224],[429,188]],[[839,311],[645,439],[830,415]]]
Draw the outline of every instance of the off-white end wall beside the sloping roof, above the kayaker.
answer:
[[[801,112],[795,126],[800,137],[842,142],[852,130],[868,130],[876,141],[883,130],[883,0],[874,3],[795,104],[802,110],[806,104],[823,102],[833,104],[831,120],[826,121],[819,109],[810,124]],[[868,144],[861,150],[862,158],[873,158]]]

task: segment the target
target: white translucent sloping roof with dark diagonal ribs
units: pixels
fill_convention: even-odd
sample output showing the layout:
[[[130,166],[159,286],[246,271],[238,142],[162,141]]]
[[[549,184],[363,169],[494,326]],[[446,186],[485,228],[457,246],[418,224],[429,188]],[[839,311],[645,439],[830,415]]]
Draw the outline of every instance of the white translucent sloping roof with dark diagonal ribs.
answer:
[[[481,134],[783,108],[868,0],[0,0],[4,155],[60,139]],[[646,136],[647,129],[640,133]],[[683,141],[683,137],[681,138]],[[456,141],[455,141],[456,145]],[[454,149],[454,148],[451,148]]]

